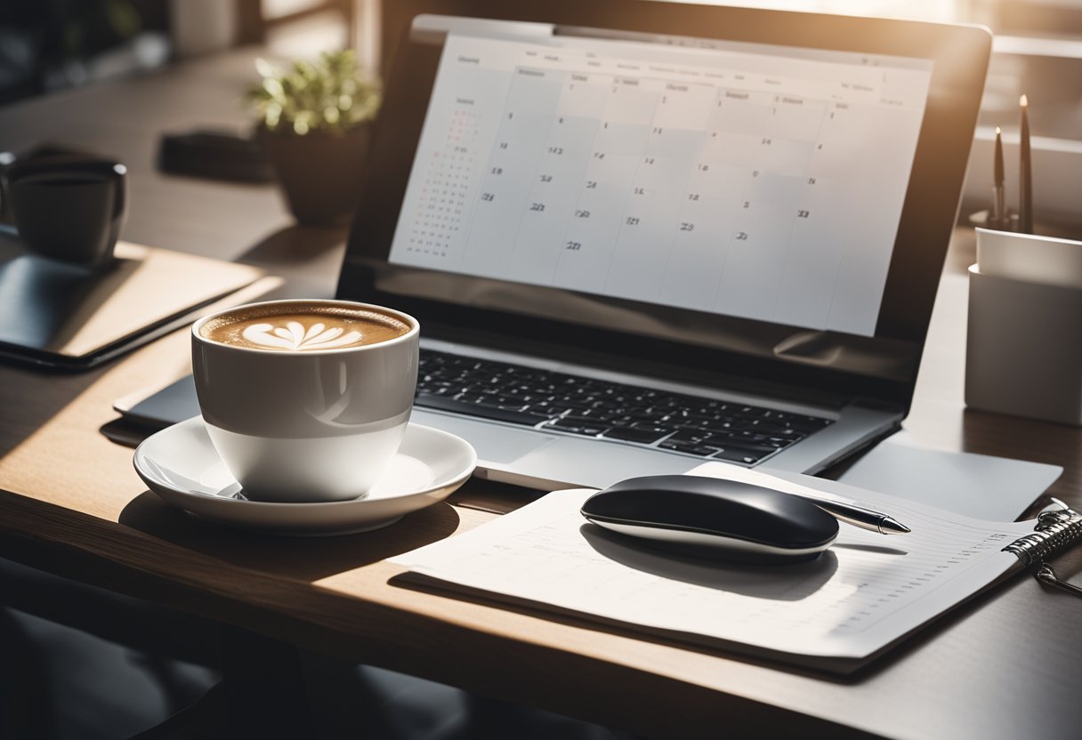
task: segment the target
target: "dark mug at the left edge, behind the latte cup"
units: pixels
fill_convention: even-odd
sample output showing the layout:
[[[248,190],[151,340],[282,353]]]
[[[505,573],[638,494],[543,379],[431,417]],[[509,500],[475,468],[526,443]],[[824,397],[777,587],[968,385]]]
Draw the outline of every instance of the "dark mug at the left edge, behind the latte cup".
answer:
[[[109,262],[124,220],[126,172],[105,159],[50,157],[11,164],[9,207],[24,249],[77,265]]]

